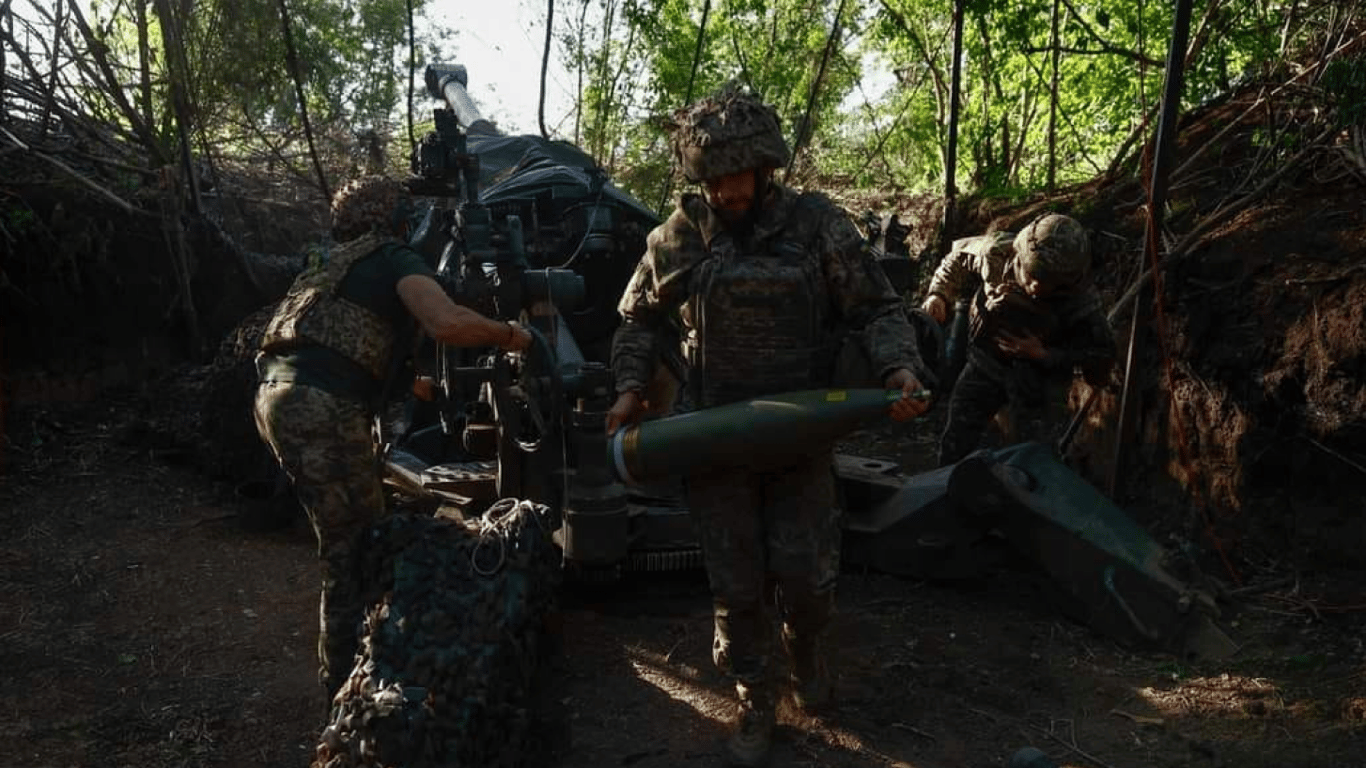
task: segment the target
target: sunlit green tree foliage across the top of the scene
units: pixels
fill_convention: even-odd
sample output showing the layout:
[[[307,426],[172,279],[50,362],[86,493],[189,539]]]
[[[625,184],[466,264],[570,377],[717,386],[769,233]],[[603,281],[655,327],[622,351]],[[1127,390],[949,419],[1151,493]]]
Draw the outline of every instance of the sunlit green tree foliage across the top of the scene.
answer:
[[[426,20],[426,0],[56,0],[23,15],[11,3],[5,75],[52,105],[79,105],[164,161],[253,159],[322,190],[366,163],[406,167],[410,42],[421,70],[459,40]],[[1197,3],[1186,105],[1330,49],[1361,5]],[[578,83],[576,116],[555,138],[663,205],[673,176],[661,118],[734,79],[777,108],[794,183],[943,193],[956,12],[963,191],[1135,167],[1171,34],[1172,5],[1157,0],[548,0]],[[1358,72],[1333,77],[1361,89]]]

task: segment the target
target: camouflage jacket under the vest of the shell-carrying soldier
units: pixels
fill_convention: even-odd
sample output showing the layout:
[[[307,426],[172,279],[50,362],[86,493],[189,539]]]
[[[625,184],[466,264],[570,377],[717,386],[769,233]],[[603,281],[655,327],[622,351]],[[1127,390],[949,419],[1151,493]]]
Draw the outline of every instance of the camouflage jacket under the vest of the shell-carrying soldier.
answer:
[[[617,392],[643,391],[669,344],[706,346],[706,339],[697,338],[703,324],[690,309],[705,291],[706,262],[719,257],[731,235],[697,194],[683,195],[669,219],[650,232],[646,253],[617,305],[623,318],[612,346]],[[926,377],[902,299],[854,223],[821,194],[799,194],[773,184],[753,231],[736,247],[743,253],[779,256],[791,250],[792,243],[818,265],[816,273],[822,284],[807,294],[822,305],[814,314],[826,335],[835,336],[841,328],[858,331],[880,377],[897,368]],[[799,298],[794,295],[792,301]],[[714,327],[723,324],[717,321]],[[690,373],[693,369],[695,364]],[[791,381],[790,388],[829,384],[820,376],[814,379]]]

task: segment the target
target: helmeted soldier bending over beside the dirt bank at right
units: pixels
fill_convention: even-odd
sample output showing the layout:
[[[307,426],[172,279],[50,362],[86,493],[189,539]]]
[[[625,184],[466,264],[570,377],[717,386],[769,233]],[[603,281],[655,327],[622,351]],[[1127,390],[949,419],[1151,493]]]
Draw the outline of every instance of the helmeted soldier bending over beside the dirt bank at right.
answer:
[[[1019,234],[990,232],[953,243],[934,271],[922,309],[940,323],[967,284],[981,279],[970,305],[967,365],[949,396],[940,439],[940,466],[973,452],[1004,406],[1024,422],[1026,439],[1042,439],[1050,392],[1081,369],[1104,385],[1115,361],[1115,336],[1089,282],[1090,243],[1082,225],[1048,213]],[[1029,415],[1022,418],[1022,415]]]

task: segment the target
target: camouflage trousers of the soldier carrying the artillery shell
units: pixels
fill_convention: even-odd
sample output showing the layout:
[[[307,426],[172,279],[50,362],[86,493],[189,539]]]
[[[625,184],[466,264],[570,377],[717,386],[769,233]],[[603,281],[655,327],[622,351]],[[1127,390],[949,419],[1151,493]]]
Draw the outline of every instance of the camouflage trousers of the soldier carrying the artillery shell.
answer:
[[[770,696],[775,597],[792,657],[820,653],[835,614],[840,521],[833,455],[777,471],[713,469],[686,478],[712,586],[712,660],[744,696]],[[775,592],[769,592],[776,585]]]

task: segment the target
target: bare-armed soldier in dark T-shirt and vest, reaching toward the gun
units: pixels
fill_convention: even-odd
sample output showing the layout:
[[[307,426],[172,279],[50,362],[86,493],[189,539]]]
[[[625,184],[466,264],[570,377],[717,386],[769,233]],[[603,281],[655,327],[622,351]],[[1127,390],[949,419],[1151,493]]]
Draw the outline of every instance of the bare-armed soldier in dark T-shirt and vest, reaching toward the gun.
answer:
[[[530,335],[451,302],[432,266],[403,243],[404,187],[363,176],[336,193],[325,264],[302,273],[257,355],[255,424],[294,481],[318,538],[320,679],[328,697],[351,671],[366,596],[363,532],[384,512],[374,441],[378,400],[399,376],[400,339],[417,324],[452,346],[522,350]]]

